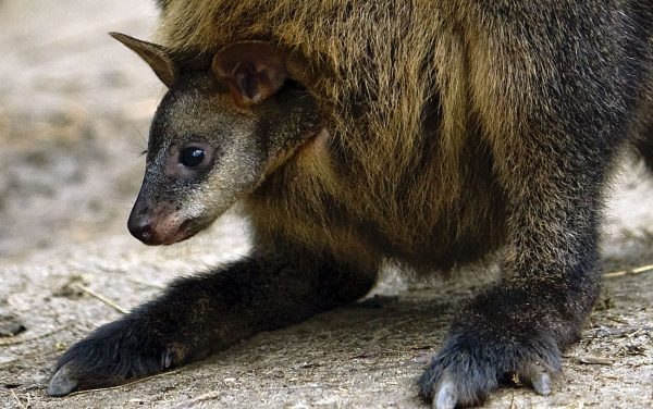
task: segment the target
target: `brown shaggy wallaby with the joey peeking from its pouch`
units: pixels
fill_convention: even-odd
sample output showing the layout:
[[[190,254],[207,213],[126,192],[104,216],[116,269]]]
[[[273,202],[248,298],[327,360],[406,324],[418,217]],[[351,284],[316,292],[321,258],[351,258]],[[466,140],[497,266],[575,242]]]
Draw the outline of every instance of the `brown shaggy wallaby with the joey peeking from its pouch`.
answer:
[[[160,0],[161,45],[113,36],[169,88],[128,221],[176,243],[241,202],[251,255],[103,325],[50,395],[201,359],[352,303],[391,259],[502,251],[419,380],[438,408],[514,374],[551,391],[600,287],[619,152],[653,169],[653,3]],[[632,144],[629,144],[629,140]]]

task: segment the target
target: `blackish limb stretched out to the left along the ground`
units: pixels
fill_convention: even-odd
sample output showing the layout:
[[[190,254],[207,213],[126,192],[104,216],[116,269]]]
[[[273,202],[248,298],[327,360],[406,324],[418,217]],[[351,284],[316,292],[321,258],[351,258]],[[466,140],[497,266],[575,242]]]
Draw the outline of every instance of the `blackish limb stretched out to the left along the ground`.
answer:
[[[375,270],[308,251],[255,252],[178,280],[159,298],[73,345],[57,363],[48,394],[121,384],[345,306],[368,293]]]

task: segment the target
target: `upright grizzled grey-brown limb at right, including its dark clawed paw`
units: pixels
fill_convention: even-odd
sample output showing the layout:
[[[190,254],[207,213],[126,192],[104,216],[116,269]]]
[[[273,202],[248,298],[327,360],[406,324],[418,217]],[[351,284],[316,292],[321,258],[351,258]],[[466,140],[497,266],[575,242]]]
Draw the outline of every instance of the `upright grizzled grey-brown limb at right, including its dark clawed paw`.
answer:
[[[605,75],[599,78],[574,72],[570,61],[594,66],[594,50],[607,47],[603,41],[611,37],[593,35],[596,29],[589,24],[569,27],[579,35],[565,37],[565,46],[510,37],[483,44],[515,47],[516,53],[530,53],[529,61],[539,62],[534,71],[558,75],[529,83],[520,67],[503,71],[509,62],[478,62],[485,74],[479,78],[515,85],[515,94],[489,94],[492,99],[482,106],[486,112],[501,109],[502,120],[510,124],[490,134],[501,153],[494,156],[494,171],[506,195],[507,245],[501,280],[460,309],[444,347],[420,379],[420,394],[436,408],[478,405],[506,375],[549,394],[562,352],[578,339],[599,294],[602,189],[631,124],[627,104],[614,103],[626,101],[627,95],[612,73],[631,67],[615,59],[601,66]],[[544,33],[538,25],[532,29],[532,38]],[[488,36],[493,35],[506,33],[489,29]],[[501,52],[491,49],[488,54]],[[574,79],[560,85],[557,78],[563,77]],[[520,98],[532,103],[514,104]],[[483,119],[488,128],[498,113]]]

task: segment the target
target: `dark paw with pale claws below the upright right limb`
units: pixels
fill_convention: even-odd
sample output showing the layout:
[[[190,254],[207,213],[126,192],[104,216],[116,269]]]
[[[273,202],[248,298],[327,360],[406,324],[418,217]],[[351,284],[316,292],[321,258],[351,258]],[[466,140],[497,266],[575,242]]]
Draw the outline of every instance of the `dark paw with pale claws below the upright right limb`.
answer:
[[[476,302],[454,321],[445,347],[419,380],[420,395],[434,408],[482,404],[513,376],[541,395],[551,393],[551,375],[560,367],[558,336],[537,319],[540,311],[509,303]]]

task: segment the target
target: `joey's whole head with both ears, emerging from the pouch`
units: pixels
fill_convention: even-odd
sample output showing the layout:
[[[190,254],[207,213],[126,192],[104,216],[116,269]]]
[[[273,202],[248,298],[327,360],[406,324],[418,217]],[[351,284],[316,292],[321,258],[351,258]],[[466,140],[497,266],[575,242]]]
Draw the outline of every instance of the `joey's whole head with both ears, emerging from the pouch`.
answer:
[[[168,87],[150,127],[130,232],[148,245],[208,227],[320,132],[315,100],[288,70],[289,53],[263,41],[209,58],[180,58],[122,35]]]

